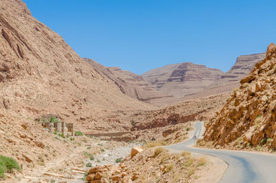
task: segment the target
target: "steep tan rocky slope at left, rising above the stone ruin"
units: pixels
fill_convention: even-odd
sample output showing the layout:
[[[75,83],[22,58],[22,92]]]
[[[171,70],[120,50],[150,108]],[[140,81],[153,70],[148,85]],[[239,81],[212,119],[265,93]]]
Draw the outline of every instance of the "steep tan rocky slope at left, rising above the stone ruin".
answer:
[[[25,117],[56,113],[77,128],[117,128],[105,115],[150,108],[121,93],[19,0],[0,3],[0,107]],[[77,36],[77,35],[76,35]],[[105,123],[106,122],[106,123]],[[123,128],[121,128],[123,129]]]

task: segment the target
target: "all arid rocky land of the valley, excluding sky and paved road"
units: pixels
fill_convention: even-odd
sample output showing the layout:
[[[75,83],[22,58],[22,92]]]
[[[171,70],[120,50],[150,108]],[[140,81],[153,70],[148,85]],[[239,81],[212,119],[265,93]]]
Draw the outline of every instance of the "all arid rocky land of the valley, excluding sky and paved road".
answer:
[[[274,153],[274,44],[227,73],[184,62],[136,75],[79,57],[23,1],[0,2],[0,182],[219,182],[223,160],[164,147],[199,121],[198,146]]]

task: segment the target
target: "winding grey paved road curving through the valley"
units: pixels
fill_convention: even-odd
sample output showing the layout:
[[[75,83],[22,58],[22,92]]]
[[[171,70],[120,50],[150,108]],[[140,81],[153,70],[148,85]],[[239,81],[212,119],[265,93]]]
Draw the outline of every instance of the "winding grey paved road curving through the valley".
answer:
[[[203,122],[195,123],[197,138],[203,133]],[[215,149],[193,148],[194,139],[167,148],[186,150],[206,155],[214,155],[229,164],[220,183],[276,183],[276,156],[248,153],[244,151],[224,151]]]

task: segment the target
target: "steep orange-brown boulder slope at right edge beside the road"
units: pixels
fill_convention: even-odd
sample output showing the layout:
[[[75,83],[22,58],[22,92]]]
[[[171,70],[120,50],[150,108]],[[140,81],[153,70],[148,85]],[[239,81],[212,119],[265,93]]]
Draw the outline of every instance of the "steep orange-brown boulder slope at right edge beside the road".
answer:
[[[276,46],[270,44],[266,58],[255,64],[240,82],[226,105],[206,126],[204,139],[214,145],[233,143],[238,148],[276,148]],[[258,147],[258,148],[259,148]]]

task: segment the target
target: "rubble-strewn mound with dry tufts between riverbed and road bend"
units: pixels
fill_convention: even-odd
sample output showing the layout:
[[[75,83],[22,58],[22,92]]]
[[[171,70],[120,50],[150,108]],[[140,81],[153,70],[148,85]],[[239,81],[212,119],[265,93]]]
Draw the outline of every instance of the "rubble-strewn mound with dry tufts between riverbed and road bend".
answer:
[[[214,157],[198,157],[189,152],[170,153],[164,148],[143,151],[132,148],[119,165],[96,166],[88,171],[87,183],[99,182],[217,182],[226,164]],[[212,175],[212,176],[210,176]]]

